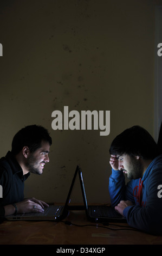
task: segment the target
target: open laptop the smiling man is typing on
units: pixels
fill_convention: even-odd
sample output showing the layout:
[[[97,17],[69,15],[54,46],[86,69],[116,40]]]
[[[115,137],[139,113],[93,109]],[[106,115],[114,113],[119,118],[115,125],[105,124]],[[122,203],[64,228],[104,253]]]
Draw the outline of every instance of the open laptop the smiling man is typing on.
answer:
[[[66,203],[63,205],[49,205],[44,208],[44,212],[31,212],[28,214],[17,214],[5,216],[9,221],[61,221],[66,218],[68,211],[68,203],[72,194],[73,186],[76,180],[76,175],[79,170],[79,166],[76,166],[76,170],[73,176],[72,184],[66,199]]]

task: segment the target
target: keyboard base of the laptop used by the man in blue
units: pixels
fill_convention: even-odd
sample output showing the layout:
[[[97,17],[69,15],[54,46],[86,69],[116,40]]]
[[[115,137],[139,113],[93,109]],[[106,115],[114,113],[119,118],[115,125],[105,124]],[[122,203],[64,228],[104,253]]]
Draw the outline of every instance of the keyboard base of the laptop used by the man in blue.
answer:
[[[109,206],[90,206],[92,217],[121,217],[118,212]]]

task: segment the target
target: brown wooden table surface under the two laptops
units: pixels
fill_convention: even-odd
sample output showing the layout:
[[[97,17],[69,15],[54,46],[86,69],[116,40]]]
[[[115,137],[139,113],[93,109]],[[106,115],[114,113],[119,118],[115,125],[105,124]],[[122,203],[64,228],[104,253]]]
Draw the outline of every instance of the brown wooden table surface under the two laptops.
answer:
[[[65,224],[64,221],[72,224]],[[69,215],[62,222],[4,221],[0,224],[0,244],[162,245],[162,236],[137,231],[130,228],[127,223],[103,225],[89,222],[85,211],[79,210],[69,211]]]

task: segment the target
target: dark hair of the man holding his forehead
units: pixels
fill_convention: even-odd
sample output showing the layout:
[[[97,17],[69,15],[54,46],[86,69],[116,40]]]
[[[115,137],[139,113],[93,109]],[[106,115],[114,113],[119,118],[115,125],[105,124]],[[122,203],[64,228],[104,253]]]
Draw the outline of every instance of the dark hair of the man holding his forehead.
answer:
[[[116,136],[109,149],[111,155],[134,155],[154,159],[160,154],[157,143],[144,128],[136,125]]]

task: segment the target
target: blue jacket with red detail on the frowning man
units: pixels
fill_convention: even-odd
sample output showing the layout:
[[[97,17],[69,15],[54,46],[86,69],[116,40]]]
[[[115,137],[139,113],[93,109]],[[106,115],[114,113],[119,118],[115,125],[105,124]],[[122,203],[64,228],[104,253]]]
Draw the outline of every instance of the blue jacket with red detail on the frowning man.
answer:
[[[131,227],[162,235],[162,155],[151,162],[142,179],[131,180],[127,185],[124,173],[112,169],[109,194],[112,206],[121,200],[133,203],[123,212]]]

